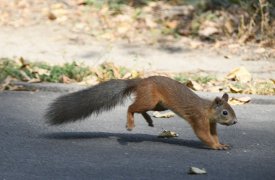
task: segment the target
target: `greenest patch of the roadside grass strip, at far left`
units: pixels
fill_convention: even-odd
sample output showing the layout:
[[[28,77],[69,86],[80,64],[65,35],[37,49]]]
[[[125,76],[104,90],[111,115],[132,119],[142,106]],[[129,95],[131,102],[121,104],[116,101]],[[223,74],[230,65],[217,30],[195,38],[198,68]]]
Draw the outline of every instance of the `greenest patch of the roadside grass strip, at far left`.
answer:
[[[26,63],[22,59],[16,62],[5,58],[0,59],[0,72],[0,81],[10,76],[20,81],[41,82],[62,82],[62,76],[80,82],[91,74],[89,67],[76,62],[50,66],[46,63]]]

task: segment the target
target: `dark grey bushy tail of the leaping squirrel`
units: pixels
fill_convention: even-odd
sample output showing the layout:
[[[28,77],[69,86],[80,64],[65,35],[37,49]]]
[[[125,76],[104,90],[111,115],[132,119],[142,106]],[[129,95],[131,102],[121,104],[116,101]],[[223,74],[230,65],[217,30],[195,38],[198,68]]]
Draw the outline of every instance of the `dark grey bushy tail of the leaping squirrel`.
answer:
[[[134,91],[139,79],[110,80],[81,91],[57,98],[46,112],[46,119],[52,125],[73,122],[95,113],[110,110],[123,103]]]

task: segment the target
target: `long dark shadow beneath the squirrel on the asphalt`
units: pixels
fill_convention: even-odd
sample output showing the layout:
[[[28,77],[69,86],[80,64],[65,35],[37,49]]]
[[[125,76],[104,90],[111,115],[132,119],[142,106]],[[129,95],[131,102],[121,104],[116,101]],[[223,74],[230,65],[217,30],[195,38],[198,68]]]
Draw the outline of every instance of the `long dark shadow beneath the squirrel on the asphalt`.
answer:
[[[206,149],[206,147],[200,142],[195,140],[185,140],[179,138],[159,138],[155,135],[149,134],[130,134],[130,133],[108,133],[108,132],[57,132],[48,133],[42,135],[47,139],[59,139],[59,140],[71,140],[71,139],[96,139],[96,138],[117,138],[117,141],[121,145],[127,145],[128,143],[141,143],[148,142],[161,142],[172,145],[186,146],[196,149]]]

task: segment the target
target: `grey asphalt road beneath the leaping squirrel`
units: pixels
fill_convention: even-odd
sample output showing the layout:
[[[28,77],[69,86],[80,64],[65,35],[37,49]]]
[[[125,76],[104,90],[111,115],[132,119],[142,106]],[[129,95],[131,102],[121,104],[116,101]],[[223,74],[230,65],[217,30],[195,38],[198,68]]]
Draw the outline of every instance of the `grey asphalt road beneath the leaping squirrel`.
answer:
[[[239,123],[218,127],[221,141],[233,147],[215,151],[179,117],[154,119],[150,128],[136,115],[128,132],[126,106],[48,126],[43,113],[58,95],[0,93],[0,179],[275,179],[275,103],[234,107]],[[158,138],[163,129],[179,137]],[[207,175],[189,175],[190,166]]]

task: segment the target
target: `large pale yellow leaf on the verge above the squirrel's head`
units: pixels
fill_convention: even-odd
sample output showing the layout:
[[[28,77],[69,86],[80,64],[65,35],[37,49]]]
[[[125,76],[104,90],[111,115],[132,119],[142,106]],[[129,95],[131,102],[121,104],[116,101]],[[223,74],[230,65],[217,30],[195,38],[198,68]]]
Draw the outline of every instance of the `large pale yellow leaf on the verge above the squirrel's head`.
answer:
[[[230,80],[236,80],[241,83],[247,83],[252,80],[252,75],[245,67],[237,67],[229,72],[226,78]]]

